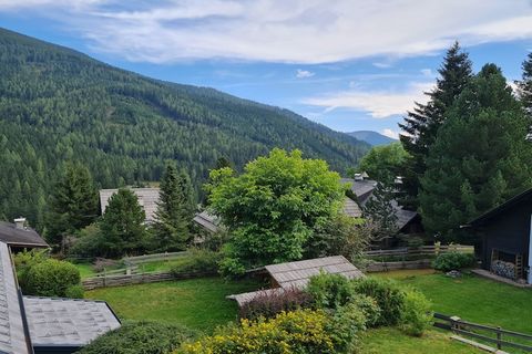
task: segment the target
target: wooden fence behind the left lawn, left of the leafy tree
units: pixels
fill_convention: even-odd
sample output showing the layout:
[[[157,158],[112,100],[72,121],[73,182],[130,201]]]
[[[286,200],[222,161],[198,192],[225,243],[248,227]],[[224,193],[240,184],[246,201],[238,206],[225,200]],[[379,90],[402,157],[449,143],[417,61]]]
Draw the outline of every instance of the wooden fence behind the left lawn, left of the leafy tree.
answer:
[[[81,284],[85,290],[93,290],[99,288],[109,287],[124,287],[142,283],[154,283],[168,280],[182,280],[194,279],[217,275],[216,272],[187,272],[187,273],[173,273],[173,272],[151,272],[139,274],[121,274],[121,275],[108,275],[88,278],[81,281]]]

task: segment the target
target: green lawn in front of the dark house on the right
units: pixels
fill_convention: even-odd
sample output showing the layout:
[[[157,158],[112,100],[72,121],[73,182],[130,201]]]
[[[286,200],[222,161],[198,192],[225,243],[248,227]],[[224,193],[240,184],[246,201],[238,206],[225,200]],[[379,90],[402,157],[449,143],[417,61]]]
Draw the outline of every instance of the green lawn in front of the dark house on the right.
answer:
[[[452,279],[441,273],[399,271],[374,274],[396,278],[422,291],[433,310],[466,321],[532,333],[532,289],[522,289],[472,274]]]

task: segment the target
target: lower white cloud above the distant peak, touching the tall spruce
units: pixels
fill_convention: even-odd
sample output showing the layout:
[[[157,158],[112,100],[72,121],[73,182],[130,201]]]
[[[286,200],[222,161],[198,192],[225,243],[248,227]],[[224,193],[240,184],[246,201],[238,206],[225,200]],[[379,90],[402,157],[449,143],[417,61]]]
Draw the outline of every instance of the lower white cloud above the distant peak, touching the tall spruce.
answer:
[[[433,83],[411,83],[405,91],[360,91],[349,90],[304,98],[301,103],[320,106],[330,112],[337,108],[365,111],[374,118],[386,118],[405,114],[413,102],[426,103]]]

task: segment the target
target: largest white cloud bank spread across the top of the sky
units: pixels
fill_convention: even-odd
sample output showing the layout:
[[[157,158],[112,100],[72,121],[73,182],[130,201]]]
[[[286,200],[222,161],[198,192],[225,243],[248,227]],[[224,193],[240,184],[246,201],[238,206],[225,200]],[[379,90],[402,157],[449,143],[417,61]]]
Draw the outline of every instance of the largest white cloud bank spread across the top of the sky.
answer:
[[[532,38],[529,0],[0,0],[0,11],[17,10],[48,13],[99,51],[154,63],[330,63],[433,53],[454,39]]]

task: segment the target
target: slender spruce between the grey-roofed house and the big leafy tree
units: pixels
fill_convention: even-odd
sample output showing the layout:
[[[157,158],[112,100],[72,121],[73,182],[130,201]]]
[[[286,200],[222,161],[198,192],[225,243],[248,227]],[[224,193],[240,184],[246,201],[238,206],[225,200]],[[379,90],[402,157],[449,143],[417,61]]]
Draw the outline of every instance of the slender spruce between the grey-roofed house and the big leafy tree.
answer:
[[[173,164],[166,166],[161,181],[154,225],[155,244],[160,251],[177,251],[186,248],[191,239],[194,217],[194,198],[188,175]]]

